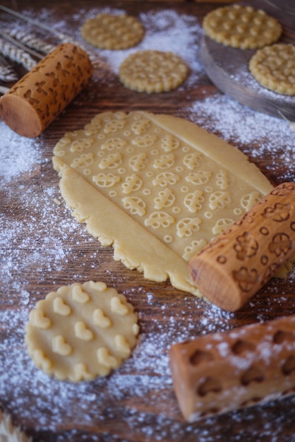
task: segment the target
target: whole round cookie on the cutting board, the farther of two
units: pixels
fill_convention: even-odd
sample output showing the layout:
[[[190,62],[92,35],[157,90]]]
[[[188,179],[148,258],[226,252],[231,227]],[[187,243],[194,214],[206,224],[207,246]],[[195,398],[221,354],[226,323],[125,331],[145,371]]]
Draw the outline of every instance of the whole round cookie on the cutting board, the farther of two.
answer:
[[[231,5],[205,16],[203,28],[208,37],[225,46],[258,49],[279,40],[282,26],[261,9]]]

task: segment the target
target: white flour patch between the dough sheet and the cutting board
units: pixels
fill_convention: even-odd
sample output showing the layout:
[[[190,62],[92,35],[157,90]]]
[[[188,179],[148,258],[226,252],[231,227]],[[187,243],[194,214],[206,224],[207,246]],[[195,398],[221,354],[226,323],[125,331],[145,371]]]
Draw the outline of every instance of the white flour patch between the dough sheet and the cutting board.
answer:
[[[284,119],[255,112],[219,93],[196,101],[188,112],[207,131],[240,145],[250,159],[265,157],[265,168],[279,182],[295,181],[295,132]]]

